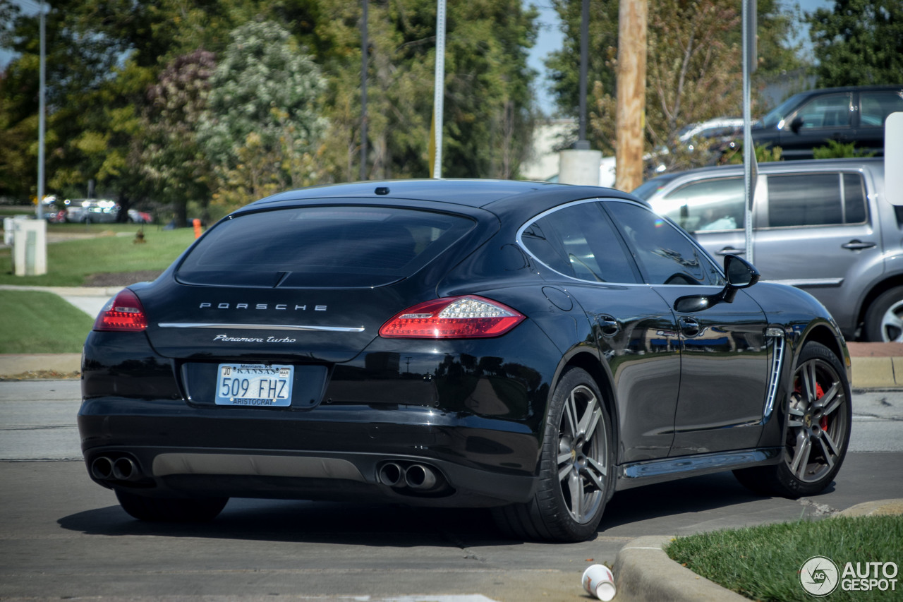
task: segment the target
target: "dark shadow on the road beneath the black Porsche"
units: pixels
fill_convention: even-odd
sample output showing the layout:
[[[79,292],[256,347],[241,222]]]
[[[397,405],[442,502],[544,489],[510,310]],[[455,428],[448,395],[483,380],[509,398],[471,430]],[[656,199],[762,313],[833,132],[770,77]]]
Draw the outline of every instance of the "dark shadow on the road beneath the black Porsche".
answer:
[[[786,515],[788,509],[796,513],[800,508],[793,501],[752,494],[731,473],[698,476],[615,494],[606,507],[599,533],[601,536],[619,536],[649,529],[665,532],[672,526],[677,529],[684,524],[704,521],[703,513],[711,513],[712,517],[743,513],[768,516],[769,509],[780,507],[783,507],[782,515]],[[63,529],[107,536],[307,541],[391,547],[463,548],[517,542],[498,531],[486,509],[409,508],[376,503],[233,498],[217,519],[206,523],[142,522],[133,519],[119,506],[70,514],[58,522]]]

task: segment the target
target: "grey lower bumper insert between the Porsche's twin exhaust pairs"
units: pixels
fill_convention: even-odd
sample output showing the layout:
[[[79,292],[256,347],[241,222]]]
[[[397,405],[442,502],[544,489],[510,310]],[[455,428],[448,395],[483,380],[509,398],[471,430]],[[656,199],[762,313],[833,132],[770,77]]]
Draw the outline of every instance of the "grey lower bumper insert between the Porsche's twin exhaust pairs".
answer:
[[[155,456],[151,471],[154,476],[261,475],[367,482],[357,466],[334,457],[171,453]]]

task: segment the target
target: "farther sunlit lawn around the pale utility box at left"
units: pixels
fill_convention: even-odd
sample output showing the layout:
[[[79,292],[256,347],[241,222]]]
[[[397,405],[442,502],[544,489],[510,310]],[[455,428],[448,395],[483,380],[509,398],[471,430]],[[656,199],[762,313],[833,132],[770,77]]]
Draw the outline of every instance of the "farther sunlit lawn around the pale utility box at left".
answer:
[[[91,274],[163,270],[194,240],[191,228],[161,230],[144,226],[144,243],[135,243],[135,224],[51,224],[48,233],[81,237],[47,245],[47,274],[14,276],[12,249],[0,249],[0,284],[80,287]],[[116,232],[129,234],[116,236]],[[92,236],[94,238],[87,238]]]

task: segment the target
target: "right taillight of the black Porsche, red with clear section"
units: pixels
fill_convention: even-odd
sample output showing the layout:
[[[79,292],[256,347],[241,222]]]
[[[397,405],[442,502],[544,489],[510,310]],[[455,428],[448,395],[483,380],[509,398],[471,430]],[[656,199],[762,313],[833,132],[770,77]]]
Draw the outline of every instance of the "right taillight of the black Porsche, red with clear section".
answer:
[[[471,339],[499,336],[525,316],[481,296],[448,296],[397,314],[379,329],[386,338]]]

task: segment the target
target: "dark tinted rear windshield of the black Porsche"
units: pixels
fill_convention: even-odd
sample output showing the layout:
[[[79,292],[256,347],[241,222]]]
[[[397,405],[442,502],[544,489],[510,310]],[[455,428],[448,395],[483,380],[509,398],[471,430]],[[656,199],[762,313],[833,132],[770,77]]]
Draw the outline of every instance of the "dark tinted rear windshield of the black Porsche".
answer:
[[[474,226],[396,207],[296,207],[219,222],[191,249],[185,284],[377,287],[410,276]]]

